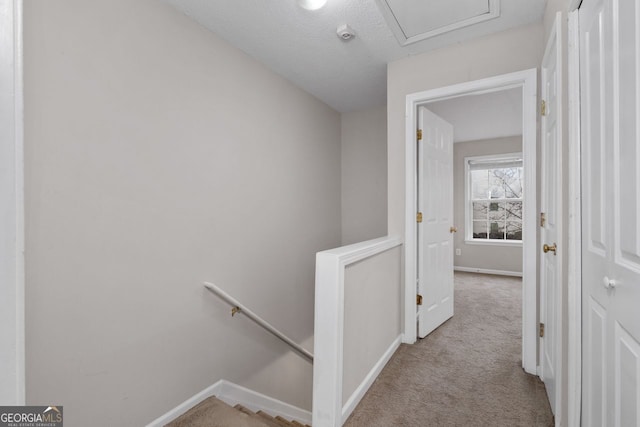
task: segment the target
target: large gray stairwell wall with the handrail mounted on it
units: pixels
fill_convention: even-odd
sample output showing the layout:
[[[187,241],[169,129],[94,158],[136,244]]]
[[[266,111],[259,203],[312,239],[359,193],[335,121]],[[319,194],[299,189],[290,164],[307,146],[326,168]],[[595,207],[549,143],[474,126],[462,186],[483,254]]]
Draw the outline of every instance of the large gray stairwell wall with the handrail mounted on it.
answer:
[[[155,0],[25,2],[27,402],[139,426],[224,378],[310,409],[340,115]]]

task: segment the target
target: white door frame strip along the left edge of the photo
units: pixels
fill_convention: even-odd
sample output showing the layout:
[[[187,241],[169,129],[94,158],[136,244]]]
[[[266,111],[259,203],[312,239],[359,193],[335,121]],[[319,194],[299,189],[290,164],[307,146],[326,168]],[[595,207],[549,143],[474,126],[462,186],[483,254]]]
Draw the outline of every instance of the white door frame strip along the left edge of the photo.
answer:
[[[22,0],[0,0],[0,397],[3,404],[24,405],[24,145],[22,82]]]

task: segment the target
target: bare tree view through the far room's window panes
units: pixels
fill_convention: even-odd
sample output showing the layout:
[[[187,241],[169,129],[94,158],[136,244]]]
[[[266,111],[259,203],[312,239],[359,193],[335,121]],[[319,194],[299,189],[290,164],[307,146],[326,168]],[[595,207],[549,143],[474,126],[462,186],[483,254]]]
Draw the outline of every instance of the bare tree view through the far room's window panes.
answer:
[[[522,241],[522,166],[470,171],[474,239]]]

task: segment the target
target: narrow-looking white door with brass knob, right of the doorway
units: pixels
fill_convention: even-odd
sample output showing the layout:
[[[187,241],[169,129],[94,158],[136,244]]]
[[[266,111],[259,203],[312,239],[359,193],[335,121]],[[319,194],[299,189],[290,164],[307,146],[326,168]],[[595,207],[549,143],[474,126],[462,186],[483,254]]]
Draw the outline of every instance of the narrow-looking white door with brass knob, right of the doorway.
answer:
[[[540,256],[540,365],[551,410],[558,409],[559,352],[561,349],[559,316],[562,293],[561,236],[562,164],[562,57],[559,13],[552,28],[547,48],[542,58],[542,123],[541,123],[541,188],[540,188],[540,240],[543,252]],[[544,326],[543,326],[544,325]],[[544,329],[542,329],[544,328]],[[557,414],[556,414],[557,415]]]

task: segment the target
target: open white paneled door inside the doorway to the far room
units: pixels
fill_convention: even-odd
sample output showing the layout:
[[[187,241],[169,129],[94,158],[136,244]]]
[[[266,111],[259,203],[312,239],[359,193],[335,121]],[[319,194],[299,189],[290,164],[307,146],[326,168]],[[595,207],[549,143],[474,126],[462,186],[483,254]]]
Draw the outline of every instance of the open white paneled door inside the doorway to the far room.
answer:
[[[418,336],[453,316],[453,128],[418,110]]]

